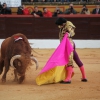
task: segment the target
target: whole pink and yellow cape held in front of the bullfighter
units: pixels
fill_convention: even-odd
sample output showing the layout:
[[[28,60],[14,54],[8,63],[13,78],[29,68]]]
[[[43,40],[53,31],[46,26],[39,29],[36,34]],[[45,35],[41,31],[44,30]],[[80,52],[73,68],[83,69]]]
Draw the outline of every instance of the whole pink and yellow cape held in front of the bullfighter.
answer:
[[[66,33],[62,42],[36,77],[37,85],[57,83],[64,80],[67,76],[65,65],[68,64],[69,55],[72,51],[73,47]]]

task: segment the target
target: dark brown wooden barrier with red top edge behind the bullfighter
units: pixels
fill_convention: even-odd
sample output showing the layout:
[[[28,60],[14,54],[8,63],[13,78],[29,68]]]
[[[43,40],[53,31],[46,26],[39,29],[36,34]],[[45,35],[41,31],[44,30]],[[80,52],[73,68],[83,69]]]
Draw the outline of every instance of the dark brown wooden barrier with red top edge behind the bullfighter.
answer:
[[[76,26],[74,39],[100,39],[100,15],[59,15]],[[56,18],[34,18],[32,15],[1,15],[0,38],[23,33],[29,39],[58,39]]]

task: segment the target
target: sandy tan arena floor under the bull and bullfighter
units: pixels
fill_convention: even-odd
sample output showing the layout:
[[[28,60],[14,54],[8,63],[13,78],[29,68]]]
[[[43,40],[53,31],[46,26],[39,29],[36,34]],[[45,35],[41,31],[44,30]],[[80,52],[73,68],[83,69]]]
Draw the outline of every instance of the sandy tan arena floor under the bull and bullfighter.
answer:
[[[26,72],[22,84],[13,82],[13,70],[7,74],[7,81],[0,81],[0,100],[100,100],[100,49],[77,49],[84,63],[88,82],[81,82],[81,72],[75,64],[75,75],[71,84],[49,84],[38,86],[35,78],[43,68],[54,49],[34,49],[34,56],[39,61]],[[1,79],[2,75],[0,75]]]

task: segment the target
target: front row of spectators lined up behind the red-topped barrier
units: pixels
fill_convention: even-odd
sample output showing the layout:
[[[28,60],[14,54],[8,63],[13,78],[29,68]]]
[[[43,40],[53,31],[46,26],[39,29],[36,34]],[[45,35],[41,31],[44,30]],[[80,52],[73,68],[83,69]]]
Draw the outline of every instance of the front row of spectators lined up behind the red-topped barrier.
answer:
[[[0,14],[12,14],[11,8],[7,7],[6,3],[0,4]],[[82,5],[81,11],[77,12],[73,3],[69,4],[69,7],[62,11],[59,7],[56,7],[51,12],[47,7],[43,7],[43,10],[39,10],[38,6],[34,6],[33,11],[30,11],[25,5],[21,5],[17,9],[17,15],[33,15],[34,17],[57,17],[59,14],[100,14],[100,5],[95,5],[95,8],[90,12],[87,5]]]

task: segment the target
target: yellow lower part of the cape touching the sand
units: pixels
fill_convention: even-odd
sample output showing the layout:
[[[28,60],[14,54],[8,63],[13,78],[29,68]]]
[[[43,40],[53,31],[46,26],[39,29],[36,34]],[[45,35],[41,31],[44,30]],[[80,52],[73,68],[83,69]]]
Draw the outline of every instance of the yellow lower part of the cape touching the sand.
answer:
[[[57,66],[47,72],[44,72],[36,78],[37,85],[57,83],[64,80],[67,76],[65,66]]]

